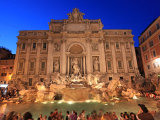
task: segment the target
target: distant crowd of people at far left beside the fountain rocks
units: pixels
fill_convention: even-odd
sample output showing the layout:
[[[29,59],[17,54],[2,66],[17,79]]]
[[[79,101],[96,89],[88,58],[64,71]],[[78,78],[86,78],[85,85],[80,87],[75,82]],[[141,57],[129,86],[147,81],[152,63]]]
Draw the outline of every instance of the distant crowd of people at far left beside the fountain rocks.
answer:
[[[8,90],[7,88],[0,88],[0,102],[17,96],[19,96],[18,89]]]

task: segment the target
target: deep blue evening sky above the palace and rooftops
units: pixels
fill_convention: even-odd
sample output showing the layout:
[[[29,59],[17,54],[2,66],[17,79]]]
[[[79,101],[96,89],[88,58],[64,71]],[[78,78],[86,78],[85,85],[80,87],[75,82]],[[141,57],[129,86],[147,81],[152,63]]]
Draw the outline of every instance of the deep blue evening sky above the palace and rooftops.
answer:
[[[16,53],[18,31],[48,30],[50,19],[66,19],[73,8],[84,18],[100,18],[104,29],[132,29],[135,46],[160,16],[160,0],[0,0],[0,46]]]

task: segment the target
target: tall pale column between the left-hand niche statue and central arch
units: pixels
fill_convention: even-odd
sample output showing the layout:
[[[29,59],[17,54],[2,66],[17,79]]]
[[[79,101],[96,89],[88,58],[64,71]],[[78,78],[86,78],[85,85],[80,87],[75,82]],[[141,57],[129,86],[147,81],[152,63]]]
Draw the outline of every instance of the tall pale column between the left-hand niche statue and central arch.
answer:
[[[61,41],[62,45],[61,45],[61,73],[62,74],[66,74],[66,53],[65,53],[65,44],[66,44],[66,40],[62,40]]]

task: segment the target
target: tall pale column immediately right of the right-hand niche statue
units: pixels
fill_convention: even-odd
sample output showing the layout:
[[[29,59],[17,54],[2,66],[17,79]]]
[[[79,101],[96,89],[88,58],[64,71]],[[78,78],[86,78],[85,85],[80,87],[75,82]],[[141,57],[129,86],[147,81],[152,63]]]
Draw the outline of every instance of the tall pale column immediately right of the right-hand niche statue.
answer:
[[[99,51],[100,51],[100,72],[106,72],[106,63],[105,63],[105,53],[104,53],[104,44],[103,40],[99,40]]]

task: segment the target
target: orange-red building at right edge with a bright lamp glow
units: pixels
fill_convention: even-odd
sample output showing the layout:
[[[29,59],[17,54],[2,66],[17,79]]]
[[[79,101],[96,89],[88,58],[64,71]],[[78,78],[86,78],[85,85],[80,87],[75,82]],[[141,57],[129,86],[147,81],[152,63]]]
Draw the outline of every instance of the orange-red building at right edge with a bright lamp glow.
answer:
[[[145,76],[160,75],[160,16],[139,37]]]

